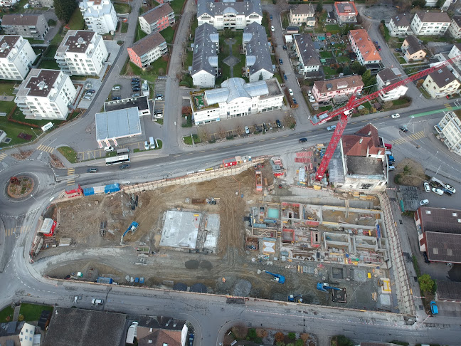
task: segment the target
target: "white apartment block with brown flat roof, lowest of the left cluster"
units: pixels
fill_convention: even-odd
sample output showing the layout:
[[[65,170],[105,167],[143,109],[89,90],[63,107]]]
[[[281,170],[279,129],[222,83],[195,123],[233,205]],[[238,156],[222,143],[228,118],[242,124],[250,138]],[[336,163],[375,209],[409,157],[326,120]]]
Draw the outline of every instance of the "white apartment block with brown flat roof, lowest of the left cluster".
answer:
[[[77,90],[60,70],[33,68],[18,89],[14,102],[26,119],[65,120]]]

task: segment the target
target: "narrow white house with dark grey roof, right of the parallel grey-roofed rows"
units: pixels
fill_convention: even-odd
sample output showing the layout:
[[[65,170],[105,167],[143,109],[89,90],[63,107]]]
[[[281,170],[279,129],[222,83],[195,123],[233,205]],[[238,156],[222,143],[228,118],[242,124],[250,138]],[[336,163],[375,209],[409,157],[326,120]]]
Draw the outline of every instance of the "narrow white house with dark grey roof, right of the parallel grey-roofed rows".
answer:
[[[309,34],[295,35],[295,49],[299,61],[298,68],[304,78],[319,71],[321,65],[319,53]]]

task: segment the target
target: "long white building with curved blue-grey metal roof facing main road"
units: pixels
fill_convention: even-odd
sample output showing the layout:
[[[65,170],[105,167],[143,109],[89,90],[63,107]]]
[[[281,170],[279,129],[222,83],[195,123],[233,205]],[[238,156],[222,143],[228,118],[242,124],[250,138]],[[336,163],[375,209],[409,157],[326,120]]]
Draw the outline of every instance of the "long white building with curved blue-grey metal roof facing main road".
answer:
[[[191,95],[196,125],[280,110],[282,105],[283,92],[276,78],[252,83],[230,78],[221,83],[221,88]]]

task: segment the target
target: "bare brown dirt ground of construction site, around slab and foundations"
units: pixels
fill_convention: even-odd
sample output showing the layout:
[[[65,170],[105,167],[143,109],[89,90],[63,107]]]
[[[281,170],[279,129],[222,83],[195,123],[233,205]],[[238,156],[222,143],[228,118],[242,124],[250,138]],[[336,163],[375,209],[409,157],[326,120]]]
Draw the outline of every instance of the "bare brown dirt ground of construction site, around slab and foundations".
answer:
[[[263,192],[255,185],[255,170],[262,172]],[[282,188],[277,188],[284,183]],[[275,186],[271,192],[269,187]],[[59,201],[56,206],[58,227],[55,241],[71,238],[70,246],[50,247],[35,258],[34,266],[40,273],[54,278],[68,278],[82,273],[78,280],[95,281],[98,276],[113,278],[119,285],[141,285],[150,288],[172,289],[174,284],[191,287],[196,283],[206,286],[208,293],[251,296],[287,301],[292,294],[302,296],[304,303],[360,308],[366,310],[393,310],[383,305],[373,293],[381,292],[379,279],[382,269],[322,264],[318,262],[266,261],[258,257],[258,241],[245,244],[248,234],[250,209],[258,207],[270,196],[272,201],[300,196],[309,199],[307,189],[285,187],[282,179],[275,179],[270,164],[248,169],[245,172],[198,184],[176,185],[139,194],[138,206],[131,208],[132,196],[119,192],[110,195],[85,196]],[[198,200],[214,198],[216,204]],[[316,201],[318,194],[313,195]],[[197,204],[193,204],[192,202]],[[218,214],[220,234],[216,253],[190,253],[159,246],[164,214],[169,210],[194,211]],[[341,215],[329,211],[328,219],[341,219]],[[354,214],[349,214],[353,219]],[[106,222],[106,232],[100,234],[100,224]],[[135,221],[139,224],[134,233],[128,232],[120,240],[127,227]],[[363,221],[368,222],[368,221]],[[245,231],[246,229],[246,231]],[[253,243],[252,243],[253,241]],[[149,253],[139,253],[140,247]],[[278,283],[267,270],[285,276],[285,283]],[[133,283],[129,278],[143,277],[144,283]],[[347,303],[332,302],[331,292],[316,289],[319,282],[329,282],[346,288]],[[392,300],[392,298],[391,298]],[[388,302],[386,306],[395,306]]]

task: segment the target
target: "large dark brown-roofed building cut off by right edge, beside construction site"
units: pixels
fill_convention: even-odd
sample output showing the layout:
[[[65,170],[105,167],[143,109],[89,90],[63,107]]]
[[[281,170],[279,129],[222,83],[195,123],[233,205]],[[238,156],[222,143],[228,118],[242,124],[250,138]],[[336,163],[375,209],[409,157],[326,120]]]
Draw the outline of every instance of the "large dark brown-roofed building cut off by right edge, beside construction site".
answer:
[[[431,262],[461,263],[461,210],[420,206],[415,211],[420,251]]]

